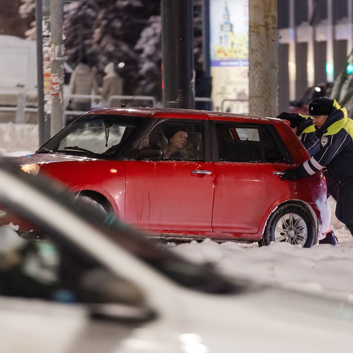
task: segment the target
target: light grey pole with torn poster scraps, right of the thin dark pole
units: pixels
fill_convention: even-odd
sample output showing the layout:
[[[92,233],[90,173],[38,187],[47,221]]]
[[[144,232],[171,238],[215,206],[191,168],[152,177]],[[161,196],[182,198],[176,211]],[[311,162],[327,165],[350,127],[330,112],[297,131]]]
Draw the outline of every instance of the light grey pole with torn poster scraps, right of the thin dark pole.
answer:
[[[51,46],[52,56],[50,74],[50,96],[52,100],[52,115],[50,124],[50,137],[58,133],[63,126],[63,104],[64,96],[62,85],[64,82],[64,64],[62,56],[64,48],[62,45],[62,14],[61,0],[50,0],[50,24],[51,24]]]

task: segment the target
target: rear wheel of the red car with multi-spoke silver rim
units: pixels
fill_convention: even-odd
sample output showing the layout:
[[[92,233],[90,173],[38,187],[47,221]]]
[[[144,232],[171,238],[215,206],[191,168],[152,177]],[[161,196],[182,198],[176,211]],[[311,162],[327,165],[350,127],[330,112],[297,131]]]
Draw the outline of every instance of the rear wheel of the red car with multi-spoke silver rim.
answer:
[[[258,244],[269,245],[271,241],[286,241],[303,247],[316,244],[317,234],[310,211],[297,202],[280,205],[267,220]]]

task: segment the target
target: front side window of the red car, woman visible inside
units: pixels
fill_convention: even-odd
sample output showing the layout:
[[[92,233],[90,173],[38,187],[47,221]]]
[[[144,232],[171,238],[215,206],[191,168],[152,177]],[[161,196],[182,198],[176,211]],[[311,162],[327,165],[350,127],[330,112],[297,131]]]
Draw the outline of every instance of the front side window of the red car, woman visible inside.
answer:
[[[164,120],[155,125],[138,149],[160,148],[160,160],[204,160],[202,121]]]

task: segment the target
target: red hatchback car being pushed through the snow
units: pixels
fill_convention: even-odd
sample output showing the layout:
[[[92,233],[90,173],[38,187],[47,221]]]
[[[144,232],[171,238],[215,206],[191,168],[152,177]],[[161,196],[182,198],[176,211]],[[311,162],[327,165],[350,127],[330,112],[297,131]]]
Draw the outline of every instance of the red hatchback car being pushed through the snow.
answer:
[[[311,247],[330,222],[322,173],[281,180],[283,170],[309,154],[289,125],[274,118],[98,109],[79,116],[35,154],[12,159],[168,240]]]

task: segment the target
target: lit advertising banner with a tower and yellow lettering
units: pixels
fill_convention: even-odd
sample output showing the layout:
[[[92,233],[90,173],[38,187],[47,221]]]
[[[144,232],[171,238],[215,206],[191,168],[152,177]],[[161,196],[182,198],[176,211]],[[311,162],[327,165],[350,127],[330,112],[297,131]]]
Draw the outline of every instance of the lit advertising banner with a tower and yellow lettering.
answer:
[[[210,0],[210,63],[214,110],[247,113],[248,0]]]

